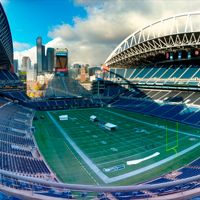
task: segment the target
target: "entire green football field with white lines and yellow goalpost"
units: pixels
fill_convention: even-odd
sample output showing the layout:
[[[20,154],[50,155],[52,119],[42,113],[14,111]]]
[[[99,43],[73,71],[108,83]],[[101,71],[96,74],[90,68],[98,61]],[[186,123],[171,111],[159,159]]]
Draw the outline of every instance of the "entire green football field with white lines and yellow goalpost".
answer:
[[[68,120],[60,121],[60,115]],[[90,116],[95,115],[97,122]],[[199,157],[200,130],[112,108],[38,112],[35,138],[57,177],[68,183],[131,184]],[[105,123],[117,126],[107,130]]]

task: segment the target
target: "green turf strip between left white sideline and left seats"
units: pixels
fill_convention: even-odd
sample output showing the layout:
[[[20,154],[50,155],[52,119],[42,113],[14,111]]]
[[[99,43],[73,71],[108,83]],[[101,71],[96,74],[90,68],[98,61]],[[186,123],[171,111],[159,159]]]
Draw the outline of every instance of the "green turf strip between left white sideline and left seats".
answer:
[[[95,184],[88,171],[69,149],[63,136],[48,120],[46,113],[37,114],[41,115],[45,119],[34,123],[37,130],[35,138],[40,151],[57,177],[63,182],[77,183],[78,180],[79,183]]]

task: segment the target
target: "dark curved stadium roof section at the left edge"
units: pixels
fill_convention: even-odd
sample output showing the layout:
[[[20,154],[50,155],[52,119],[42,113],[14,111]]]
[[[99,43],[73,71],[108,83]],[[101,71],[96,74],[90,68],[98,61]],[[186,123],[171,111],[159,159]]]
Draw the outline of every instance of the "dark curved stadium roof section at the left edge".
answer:
[[[0,4],[0,67],[9,69],[13,63],[13,42],[8,19]]]

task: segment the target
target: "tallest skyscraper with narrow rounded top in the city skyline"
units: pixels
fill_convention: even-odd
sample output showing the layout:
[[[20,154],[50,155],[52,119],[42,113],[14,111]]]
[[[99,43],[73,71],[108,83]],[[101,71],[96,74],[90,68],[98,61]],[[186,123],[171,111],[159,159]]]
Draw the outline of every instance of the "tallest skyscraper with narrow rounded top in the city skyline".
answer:
[[[37,67],[38,73],[45,71],[45,46],[42,45],[42,38],[37,37],[36,39],[37,47]]]

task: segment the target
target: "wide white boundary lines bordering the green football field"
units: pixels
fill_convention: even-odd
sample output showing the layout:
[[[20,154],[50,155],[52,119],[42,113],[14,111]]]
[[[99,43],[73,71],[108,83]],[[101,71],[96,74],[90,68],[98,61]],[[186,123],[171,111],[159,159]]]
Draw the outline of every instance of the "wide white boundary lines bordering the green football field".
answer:
[[[102,109],[106,112],[110,112],[112,114],[115,114],[115,115],[118,115],[118,116],[121,116],[123,118],[126,118],[126,119],[129,119],[129,120],[132,120],[132,121],[137,121],[139,123],[143,123],[143,124],[148,124],[150,126],[153,126],[153,127],[157,127],[157,128],[160,128],[160,129],[163,129],[162,127],[158,127],[156,125],[153,125],[151,123],[148,123],[148,122],[143,122],[141,120],[138,120],[138,119],[133,119],[131,117],[128,117],[128,116],[125,116],[123,114],[119,114],[119,113],[116,113],[116,112],[113,112],[113,111],[109,111],[109,110],[105,110],[105,109]],[[122,175],[118,175],[118,176],[115,176],[115,177],[112,177],[112,178],[109,178],[108,176],[106,176],[84,153],[83,151],[76,145],[76,143],[69,137],[69,135],[67,134],[67,132],[60,126],[60,124],[54,119],[54,117],[49,113],[47,112],[49,118],[52,120],[52,122],[55,124],[55,126],[59,129],[59,131],[62,133],[62,135],[64,136],[64,138],[69,142],[69,144],[71,145],[71,147],[76,151],[76,153],[84,160],[84,162],[88,165],[88,167],[104,182],[104,183],[112,183],[112,182],[116,182],[116,181],[120,181],[120,180],[123,180],[123,179],[126,179],[126,178],[130,178],[132,176],[135,176],[135,175],[138,175],[138,174],[141,174],[143,172],[146,172],[150,169],[153,169],[155,167],[158,167],[164,163],[167,163],[179,156],[182,156],[184,155],[185,153],[197,148],[198,146],[200,146],[200,142],[187,148],[187,149],[184,149],[180,152],[178,152],[177,154],[175,155],[172,155],[172,156],[169,156],[163,160],[160,160],[158,162],[155,162],[151,165],[148,165],[148,166],[145,166],[145,167],[142,167],[140,169],[137,169],[137,170],[134,170],[134,171],[131,171],[131,172],[128,172],[128,173],[125,173],[125,174],[122,174]],[[174,132],[173,129],[169,129],[171,131]],[[200,138],[200,136],[197,136],[197,135],[194,135],[194,134],[189,134],[189,133],[185,133],[185,132],[181,132],[180,133],[182,134],[185,134],[185,135],[189,135],[189,136],[193,136],[193,137],[198,137]]]

